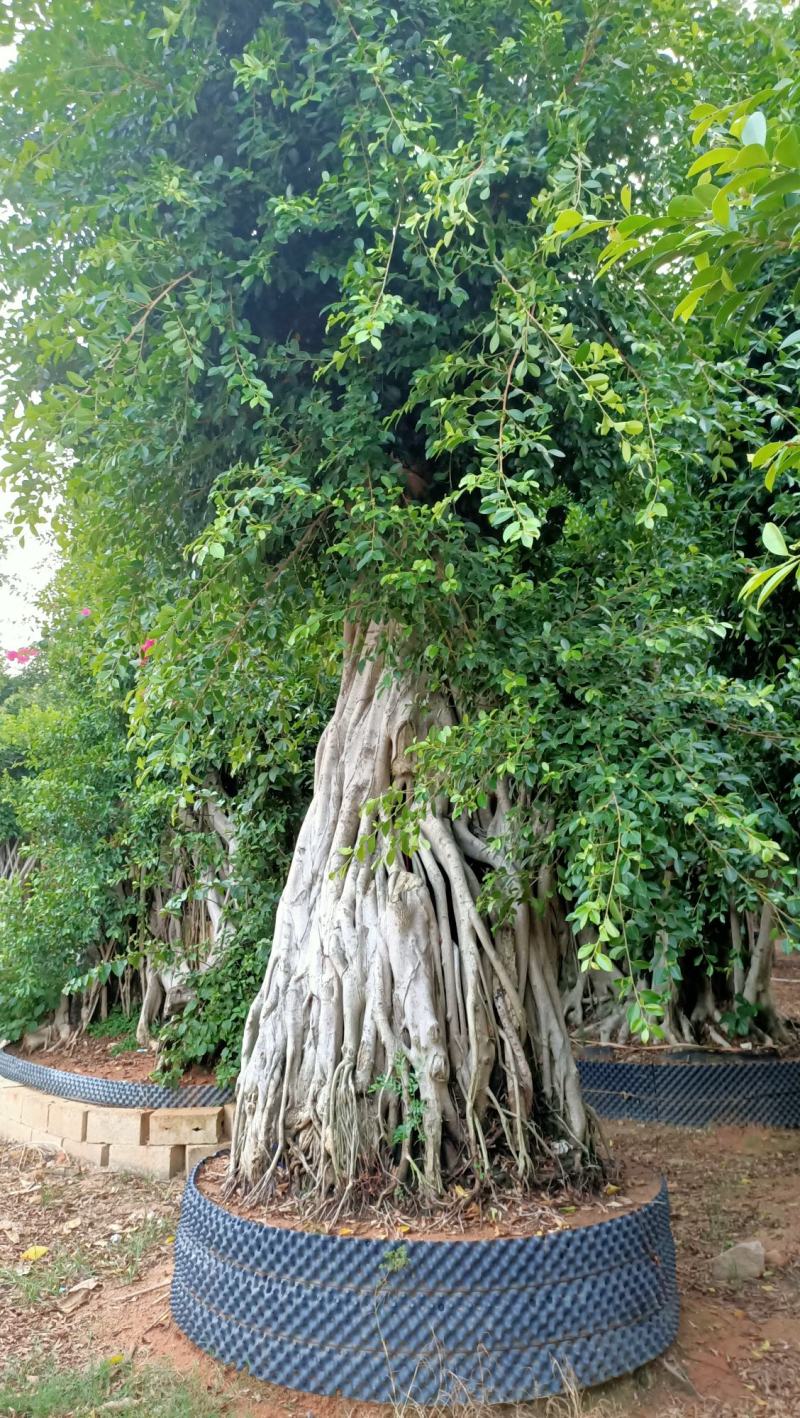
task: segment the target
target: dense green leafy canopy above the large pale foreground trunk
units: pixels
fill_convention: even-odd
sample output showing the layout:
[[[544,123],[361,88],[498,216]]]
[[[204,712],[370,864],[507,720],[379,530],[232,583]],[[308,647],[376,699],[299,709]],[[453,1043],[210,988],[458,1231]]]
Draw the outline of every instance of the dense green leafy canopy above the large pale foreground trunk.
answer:
[[[793,17],[11,11],[16,519],[60,499],[52,621],[91,640],[84,693],[128,715],[128,866],[157,871],[165,820],[210,773],[241,839],[235,956],[196,980],[169,1066],[221,1039],[233,1071],[346,620],[386,627],[390,665],[457,712],[417,750],[417,801],[386,804],[387,851],[426,795],[458,813],[508,780],[522,872],[485,899],[501,913],[550,873],[643,1037],[671,978],[728,968],[730,900],[769,896],[793,936],[796,637],[779,614],[765,644],[738,600],[794,488],[791,459],[765,488],[748,462],[797,423]],[[698,104],[701,196],[681,197]],[[47,902],[11,909],[26,953],[64,937],[75,960],[119,929],[111,780],[102,866],[67,845],[48,866],[75,872],[67,933]]]

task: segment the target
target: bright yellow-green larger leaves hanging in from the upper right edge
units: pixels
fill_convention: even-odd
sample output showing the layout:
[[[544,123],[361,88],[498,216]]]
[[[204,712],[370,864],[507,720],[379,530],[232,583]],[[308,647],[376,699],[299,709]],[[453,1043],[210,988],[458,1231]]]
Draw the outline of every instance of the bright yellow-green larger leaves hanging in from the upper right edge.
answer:
[[[643,216],[631,211],[631,189],[624,189],[626,216],[604,223],[610,240],[599,257],[601,274],[618,261],[628,269],[641,268],[657,294],[668,274],[679,294],[672,320],[704,316],[721,353],[749,342],[750,366],[756,362],[755,330],[762,322],[767,325],[756,357],[760,383],[774,390],[770,438],[748,458],[763,472],[769,492],[779,478],[794,491],[793,469],[800,468],[800,410],[796,403],[786,407],[797,367],[793,352],[800,345],[794,318],[800,301],[794,257],[800,244],[800,82],[796,52],[782,30],[772,35],[770,57],[773,77],[757,92],[723,105],[699,102],[691,111],[692,145],[709,143],[688,169],[687,177],[696,179],[692,191],[675,194],[654,216]],[[577,234],[587,230],[591,224],[582,223]],[[765,413],[759,407],[759,414]],[[776,438],[786,425],[791,434]],[[800,579],[800,542],[790,549],[774,522],[767,522],[762,539],[782,560],[753,571],[742,587],[740,597],[753,597],[759,610],[787,577]]]

